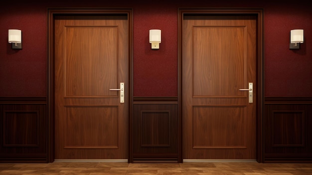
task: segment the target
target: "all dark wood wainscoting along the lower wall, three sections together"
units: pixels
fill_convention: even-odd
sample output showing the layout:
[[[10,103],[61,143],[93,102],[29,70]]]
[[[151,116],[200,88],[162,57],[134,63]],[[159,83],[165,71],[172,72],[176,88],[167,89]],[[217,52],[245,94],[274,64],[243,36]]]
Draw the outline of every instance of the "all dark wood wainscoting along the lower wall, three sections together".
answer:
[[[266,97],[263,163],[312,163],[312,98]],[[129,162],[182,163],[176,97],[135,97]],[[45,97],[0,97],[0,163],[48,163]]]

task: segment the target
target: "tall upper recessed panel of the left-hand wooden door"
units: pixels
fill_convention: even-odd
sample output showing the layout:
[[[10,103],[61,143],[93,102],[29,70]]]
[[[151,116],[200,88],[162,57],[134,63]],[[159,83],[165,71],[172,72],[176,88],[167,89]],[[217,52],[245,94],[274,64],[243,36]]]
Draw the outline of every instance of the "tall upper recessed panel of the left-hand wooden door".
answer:
[[[64,31],[65,97],[116,95],[108,89],[119,84],[118,26],[75,25]]]

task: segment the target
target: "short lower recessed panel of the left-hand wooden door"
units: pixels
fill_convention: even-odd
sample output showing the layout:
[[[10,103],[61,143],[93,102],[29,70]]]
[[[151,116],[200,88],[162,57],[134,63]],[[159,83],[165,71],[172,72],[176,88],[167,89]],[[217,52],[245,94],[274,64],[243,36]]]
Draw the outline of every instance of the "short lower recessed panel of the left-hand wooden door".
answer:
[[[64,148],[69,149],[117,149],[118,148],[118,107],[66,107],[62,120]],[[92,119],[92,120],[90,120]],[[102,137],[99,133],[105,133]]]

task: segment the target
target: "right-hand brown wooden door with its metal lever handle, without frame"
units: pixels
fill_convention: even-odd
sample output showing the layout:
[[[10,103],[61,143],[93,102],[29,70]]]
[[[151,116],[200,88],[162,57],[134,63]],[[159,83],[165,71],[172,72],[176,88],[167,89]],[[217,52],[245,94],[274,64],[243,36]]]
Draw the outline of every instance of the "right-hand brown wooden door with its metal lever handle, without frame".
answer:
[[[256,33],[256,16],[184,14],[183,159],[256,159]]]

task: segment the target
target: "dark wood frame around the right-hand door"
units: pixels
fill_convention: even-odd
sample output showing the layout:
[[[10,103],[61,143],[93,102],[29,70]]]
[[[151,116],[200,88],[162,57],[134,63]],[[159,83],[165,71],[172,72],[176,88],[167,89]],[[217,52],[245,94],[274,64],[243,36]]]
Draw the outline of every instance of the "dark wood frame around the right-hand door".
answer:
[[[262,8],[178,8],[178,118],[179,133],[182,133],[182,26],[183,15],[216,14],[216,15],[255,15],[257,22],[257,60],[256,60],[256,160],[263,163],[263,103],[264,103],[264,53],[263,53],[263,9]],[[179,141],[182,145],[182,141]],[[182,149],[180,150],[182,155]]]

